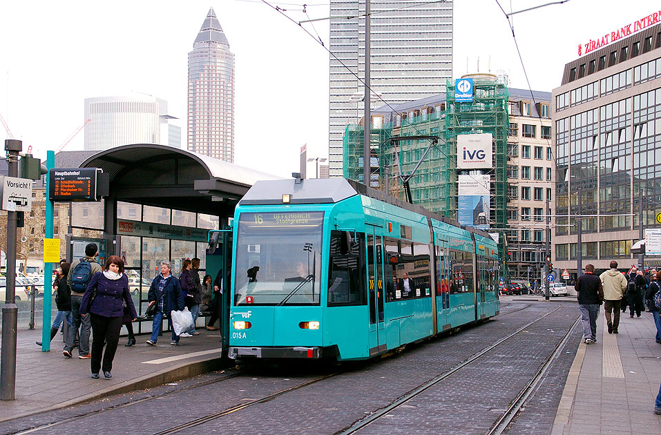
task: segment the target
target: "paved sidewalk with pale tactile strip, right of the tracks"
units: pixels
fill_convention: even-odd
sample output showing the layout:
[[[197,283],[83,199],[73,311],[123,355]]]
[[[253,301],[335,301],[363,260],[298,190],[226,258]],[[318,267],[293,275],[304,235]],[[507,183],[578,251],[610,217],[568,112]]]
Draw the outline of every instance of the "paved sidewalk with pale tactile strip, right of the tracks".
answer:
[[[653,413],[661,383],[661,345],[651,313],[620,318],[608,334],[602,306],[597,342],[581,344],[567,377],[553,435],[661,434]]]

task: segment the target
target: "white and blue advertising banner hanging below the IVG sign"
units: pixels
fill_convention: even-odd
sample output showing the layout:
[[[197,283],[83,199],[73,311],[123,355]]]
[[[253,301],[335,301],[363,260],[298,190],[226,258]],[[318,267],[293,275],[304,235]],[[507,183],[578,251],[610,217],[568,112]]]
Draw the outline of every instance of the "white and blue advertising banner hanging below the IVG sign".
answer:
[[[459,223],[489,228],[489,175],[459,175]]]

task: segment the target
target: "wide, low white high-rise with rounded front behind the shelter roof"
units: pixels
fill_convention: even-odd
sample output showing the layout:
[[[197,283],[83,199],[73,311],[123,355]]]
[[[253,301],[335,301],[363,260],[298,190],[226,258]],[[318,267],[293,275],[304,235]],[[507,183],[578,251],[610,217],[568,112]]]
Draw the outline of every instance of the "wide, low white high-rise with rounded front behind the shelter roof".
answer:
[[[169,124],[169,119],[175,118],[167,111],[167,101],[151,95],[86,98],[84,149],[102,151],[129,144],[179,147],[180,140],[173,143],[178,129],[181,136],[180,128]]]

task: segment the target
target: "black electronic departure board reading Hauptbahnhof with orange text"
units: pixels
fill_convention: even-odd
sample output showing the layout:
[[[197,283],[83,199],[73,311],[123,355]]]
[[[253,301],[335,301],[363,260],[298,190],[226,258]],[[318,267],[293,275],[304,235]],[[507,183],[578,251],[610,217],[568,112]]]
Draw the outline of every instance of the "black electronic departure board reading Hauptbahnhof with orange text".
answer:
[[[108,178],[99,168],[55,168],[48,173],[51,201],[100,201],[107,192]]]

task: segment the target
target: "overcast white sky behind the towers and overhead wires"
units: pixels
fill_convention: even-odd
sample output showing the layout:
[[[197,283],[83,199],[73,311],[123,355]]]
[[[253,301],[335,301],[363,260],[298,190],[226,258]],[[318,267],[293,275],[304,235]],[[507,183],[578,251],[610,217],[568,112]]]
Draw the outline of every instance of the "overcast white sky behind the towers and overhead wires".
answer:
[[[295,21],[329,15],[327,0],[308,5],[307,15],[295,1],[271,4]],[[500,1],[509,12],[550,0]],[[530,86],[559,86],[579,43],[658,12],[654,3],[571,0],[516,14]],[[303,144],[326,157],[329,55],[295,23],[253,0],[1,1],[0,114],[24,151],[32,145],[45,157],[82,125],[85,98],[137,91],[168,101],[185,142],[187,54],[211,6],[236,59],[235,163],[289,176],[298,171]],[[327,21],[304,26],[328,46]],[[496,1],[455,1],[454,77],[466,73],[467,63],[475,72],[478,57],[481,72],[506,72],[511,87],[528,87]],[[65,149],[82,148],[79,133]]]

